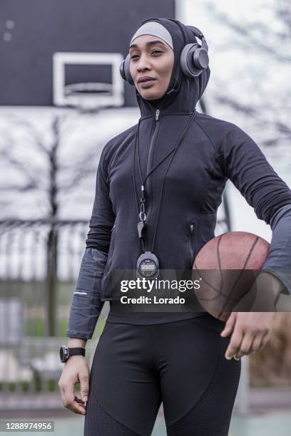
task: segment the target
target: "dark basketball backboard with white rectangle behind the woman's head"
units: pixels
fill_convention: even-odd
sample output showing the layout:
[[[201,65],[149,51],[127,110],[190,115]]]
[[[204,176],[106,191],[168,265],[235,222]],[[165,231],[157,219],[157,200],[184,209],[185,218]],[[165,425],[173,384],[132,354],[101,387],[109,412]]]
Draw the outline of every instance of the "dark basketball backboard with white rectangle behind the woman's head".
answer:
[[[0,105],[136,106],[119,65],[141,21],[175,0],[1,0]]]

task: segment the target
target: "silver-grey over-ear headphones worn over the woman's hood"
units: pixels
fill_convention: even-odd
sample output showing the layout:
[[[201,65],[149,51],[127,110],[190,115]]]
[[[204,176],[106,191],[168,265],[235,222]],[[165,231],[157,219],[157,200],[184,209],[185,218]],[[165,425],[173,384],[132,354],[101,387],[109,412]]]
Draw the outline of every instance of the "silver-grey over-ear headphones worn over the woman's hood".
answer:
[[[194,78],[198,77],[203,70],[208,67],[208,45],[205,41],[203,33],[194,26],[186,26],[193,31],[194,35],[197,36],[202,44],[198,43],[186,44],[180,54],[180,67],[186,77]],[[130,66],[131,56],[128,54],[125,59],[121,62],[119,71],[123,80],[127,81],[131,85],[134,85],[133,78],[131,77]]]

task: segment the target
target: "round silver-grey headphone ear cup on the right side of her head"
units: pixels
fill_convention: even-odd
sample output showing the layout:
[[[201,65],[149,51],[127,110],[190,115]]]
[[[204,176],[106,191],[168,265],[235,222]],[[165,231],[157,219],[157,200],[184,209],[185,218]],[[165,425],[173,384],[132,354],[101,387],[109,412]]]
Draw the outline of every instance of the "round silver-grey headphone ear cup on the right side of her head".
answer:
[[[185,76],[198,77],[208,67],[208,53],[197,43],[186,44],[180,55],[180,66]]]

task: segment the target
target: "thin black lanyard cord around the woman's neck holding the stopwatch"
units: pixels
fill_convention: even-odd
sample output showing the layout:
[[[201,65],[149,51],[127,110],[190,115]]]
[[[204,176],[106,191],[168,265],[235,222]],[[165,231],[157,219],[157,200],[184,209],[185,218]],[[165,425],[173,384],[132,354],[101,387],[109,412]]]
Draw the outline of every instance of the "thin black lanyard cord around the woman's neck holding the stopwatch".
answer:
[[[182,133],[180,139],[178,140],[178,144],[175,146],[175,148],[173,148],[173,150],[171,150],[168,153],[168,155],[166,155],[163,158],[163,160],[165,160],[173,152],[173,155],[170,158],[170,162],[168,163],[168,167],[166,168],[165,173],[163,175],[162,187],[161,187],[161,190],[160,190],[160,198],[159,198],[159,202],[158,202],[158,213],[157,213],[157,218],[155,220],[155,227],[154,227],[154,234],[153,234],[153,244],[152,244],[152,249],[150,250],[151,252],[153,252],[153,247],[154,247],[154,244],[155,244],[155,235],[156,235],[156,231],[158,229],[158,218],[159,218],[159,214],[160,214],[160,204],[161,204],[161,200],[162,200],[162,197],[163,197],[163,187],[164,187],[164,183],[165,183],[165,176],[166,176],[166,174],[168,172],[170,164],[173,161],[173,157],[175,156],[175,152],[178,150],[178,147],[179,147],[180,143],[183,141],[183,138],[185,137],[185,134],[187,133],[188,129],[190,128],[190,125],[193,123],[195,115],[196,115],[196,110],[192,113],[192,115],[190,115],[190,119],[188,120],[188,123],[185,126],[185,129],[183,130],[183,133]],[[138,141],[139,140],[139,137],[138,137],[139,135],[138,135],[138,133],[139,133],[140,121],[141,121],[141,119],[138,120],[138,128],[137,128],[137,131],[136,131],[136,137],[135,137],[135,143],[134,143],[134,149],[133,149],[133,185],[134,185],[134,192],[135,192],[135,194],[136,194],[136,180],[135,180],[135,176],[134,176],[134,162],[135,162],[135,155],[136,155],[136,145],[137,144],[139,145],[139,141]],[[146,194],[146,190],[145,190],[145,183],[146,183],[146,180],[148,179],[148,176],[153,171],[155,171],[155,169],[158,167],[158,165],[160,165],[161,162],[163,162],[163,160],[160,161],[157,165],[155,165],[155,167],[153,167],[153,169],[150,170],[148,172],[148,174],[146,175],[146,177],[143,179],[143,176],[141,174],[141,161],[140,161],[140,156],[139,156],[139,152],[138,151],[137,151],[137,155],[138,155],[138,171],[139,171],[139,174],[140,174],[140,177],[141,177],[141,199],[140,199],[141,206],[140,206],[140,210],[139,211],[138,211],[138,196],[136,194],[136,207],[137,207],[137,211],[138,211],[138,217],[140,219],[140,221],[138,222],[138,237],[141,239],[141,243],[142,243],[142,246],[143,246],[143,252],[145,252],[146,250],[145,250],[144,242],[143,242],[143,239],[146,236],[146,211],[145,211],[145,203],[146,203],[145,194]]]

